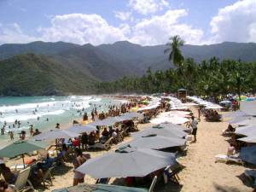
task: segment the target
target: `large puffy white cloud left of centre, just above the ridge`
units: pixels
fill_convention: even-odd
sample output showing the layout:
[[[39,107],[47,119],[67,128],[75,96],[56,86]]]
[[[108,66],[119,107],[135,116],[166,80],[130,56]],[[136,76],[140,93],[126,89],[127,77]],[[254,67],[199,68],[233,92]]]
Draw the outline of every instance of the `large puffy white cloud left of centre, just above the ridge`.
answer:
[[[110,26],[100,15],[56,15],[51,26],[40,27],[44,41],[66,41],[75,44],[104,44],[124,40],[121,28]]]

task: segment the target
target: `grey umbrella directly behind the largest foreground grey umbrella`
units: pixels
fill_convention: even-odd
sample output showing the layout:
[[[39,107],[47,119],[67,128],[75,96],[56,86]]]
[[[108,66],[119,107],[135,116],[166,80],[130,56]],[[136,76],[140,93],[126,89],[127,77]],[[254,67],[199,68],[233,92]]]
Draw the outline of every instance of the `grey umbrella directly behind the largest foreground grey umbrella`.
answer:
[[[149,135],[145,137],[137,137],[126,145],[130,145],[132,148],[173,148],[180,147],[186,143],[185,139],[177,137],[162,137],[157,135]]]

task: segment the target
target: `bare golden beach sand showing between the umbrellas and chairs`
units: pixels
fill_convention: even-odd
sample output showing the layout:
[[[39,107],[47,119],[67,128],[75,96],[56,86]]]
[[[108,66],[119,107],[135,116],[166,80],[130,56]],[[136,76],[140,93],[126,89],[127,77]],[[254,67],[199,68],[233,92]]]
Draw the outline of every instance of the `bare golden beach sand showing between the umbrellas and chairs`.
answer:
[[[191,108],[197,117],[197,110]],[[228,143],[225,137],[221,136],[222,131],[227,127],[227,122],[206,122],[201,117],[201,122],[198,125],[198,137],[196,143],[190,143],[188,146],[187,155],[178,159],[185,168],[178,174],[180,177],[180,186],[173,183],[167,183],[165,186],[156,186],[155,192],[249,192],[253,191],[241,182],[239,176],[245,171],[244,166],[215,163],[216,154],[226,154]],[[148,125],[139,125],[142,130]],[[125,137],[125,142],[130,141],[131,137]],[[110,150],[117,148],[113,145]],[[89,152],[91,157],[96,157],[108,151]],[[20,160],[18,160],[21,162]],[[17,162],[17,161],[16,161]],[[16,162],[10,162],[11,164]],[[55,179],[53,186],[47,185],[47,189],[42,189],[49,192],[53,189],[61,189],[72,186],[73,184],[73,164],[66,163],[66,166],[61,166],[54,172]],[[85,176],[85,183],[94,184],[96,179],[88,175]],[[114,178],[110,183],[116,183]]]

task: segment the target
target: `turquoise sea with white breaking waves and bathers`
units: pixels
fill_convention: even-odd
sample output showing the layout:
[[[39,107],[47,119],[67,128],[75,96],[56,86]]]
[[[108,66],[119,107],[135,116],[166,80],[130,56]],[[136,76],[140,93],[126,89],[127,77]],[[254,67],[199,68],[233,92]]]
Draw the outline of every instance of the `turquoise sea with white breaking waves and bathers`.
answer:
[[[0,135],[0,147],[9,144],[9,131],[14,131],[15,140],[19,139],[20,131],[29,128],[48,131],[55,129],[56,123],[62,128],[72,125],[73,119],[81,120],[84,112],[90,117],[93,108],[98,113],[108,111],[109,105],[119,105],[123,100],[106,96],[7,96],[0,97],[0,128],[7,124],[4,135]],[[15,125],[20,121],[20,127]]]

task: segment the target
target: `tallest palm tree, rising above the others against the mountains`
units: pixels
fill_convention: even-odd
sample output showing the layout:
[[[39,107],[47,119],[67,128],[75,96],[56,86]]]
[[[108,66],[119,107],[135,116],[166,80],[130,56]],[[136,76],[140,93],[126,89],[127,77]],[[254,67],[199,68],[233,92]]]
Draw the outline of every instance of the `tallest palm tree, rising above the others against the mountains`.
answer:
[[[185,43],[178,35],[169,38],[170,42],[166,45],[169,47],[165,49],[165,53],[169,53],[169,61],[172,61],[176,67],[182,67],[184,57],[180,47]]]

